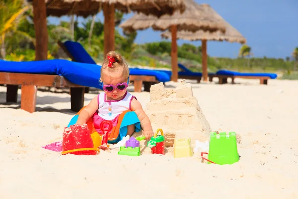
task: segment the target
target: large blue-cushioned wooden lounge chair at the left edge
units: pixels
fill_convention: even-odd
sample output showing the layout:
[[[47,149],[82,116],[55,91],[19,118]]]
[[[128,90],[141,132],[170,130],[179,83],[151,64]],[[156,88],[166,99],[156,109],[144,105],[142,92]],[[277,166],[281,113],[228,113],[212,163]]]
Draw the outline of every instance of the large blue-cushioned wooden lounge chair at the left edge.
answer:
[[[0,84],[7,84],[6,101],[17,102],[21,85],[21,109],[35,112],[37,86],[68,87],[71,110],[77,112],[84,105],[84,87],[102,89],[98,79],[100,67],[68,60],[1,61]]]

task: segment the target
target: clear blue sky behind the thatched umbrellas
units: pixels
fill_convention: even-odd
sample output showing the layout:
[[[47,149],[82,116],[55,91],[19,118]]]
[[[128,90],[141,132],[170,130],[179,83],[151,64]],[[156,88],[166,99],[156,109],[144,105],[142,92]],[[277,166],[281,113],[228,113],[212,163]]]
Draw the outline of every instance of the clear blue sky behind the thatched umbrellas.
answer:
[[[283,58],[291,56],[298,46],[298,0],[195,0],[208,3],[224,20],[234,26],[246,39],[255,57]],[[134,13],[124,15],[129,19]],[[56,17],[49,17],[50,23],[57,23]],[[69,20],[62,17],[60,20]],[[79,18],[81,22],[83,18]],[[103,21],[102,12],[97,20]],[[136,43],[165,40],[160,31],[151,28],[138,31]],[[191,43],[201,45],[201,41],[178,40],[178,45]],[[207,53],[216,57],[237,57],[240,44],[229,42],[207,42]]]

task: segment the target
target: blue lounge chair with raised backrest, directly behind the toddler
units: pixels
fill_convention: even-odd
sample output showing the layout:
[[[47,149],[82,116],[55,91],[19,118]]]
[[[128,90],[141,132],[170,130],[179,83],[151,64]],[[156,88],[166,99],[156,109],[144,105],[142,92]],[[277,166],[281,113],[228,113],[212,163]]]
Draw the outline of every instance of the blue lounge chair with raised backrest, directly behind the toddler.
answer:
[[[74,41],[58,42],[59,46],[75,62],[96,64],[84,47]],[[149,69],[130,68],[130,81],[134,82],[134,91],[141,92],[142,84],[144,91],[150,91],[151,84],[170,81],[171,76],[166,72]]]

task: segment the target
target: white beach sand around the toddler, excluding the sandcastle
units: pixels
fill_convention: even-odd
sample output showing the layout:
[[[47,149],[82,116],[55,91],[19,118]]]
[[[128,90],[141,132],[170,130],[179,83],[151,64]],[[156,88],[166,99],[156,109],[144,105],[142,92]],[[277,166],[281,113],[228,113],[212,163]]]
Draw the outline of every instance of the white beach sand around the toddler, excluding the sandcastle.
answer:
[[[298,81],[236,82],[192,85],[212,130],[241,135],[241,160],[224,166],[170,153],[62,156],[41,146],[62,139],[74,114],[69,95],[38,91],[40,112],[29,114],[3,105],[0,87],[0,199],[297,199]],[[149,93],[135,95],[145,108]]]

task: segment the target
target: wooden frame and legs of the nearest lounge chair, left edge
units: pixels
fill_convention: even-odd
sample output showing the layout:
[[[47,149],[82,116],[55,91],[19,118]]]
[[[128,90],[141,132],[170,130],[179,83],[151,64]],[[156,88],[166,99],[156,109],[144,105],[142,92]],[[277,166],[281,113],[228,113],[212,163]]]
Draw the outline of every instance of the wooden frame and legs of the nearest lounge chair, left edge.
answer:
[[[78,112],[84,105],[84,86],[73,84],[59,75],[0,72],[0,84],[7,84],[6,101],[17,103],[18,86],[21,85],[21,109],[35,112],[38,86],[68,87],[71,93],[71,110]]]

